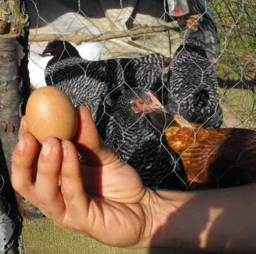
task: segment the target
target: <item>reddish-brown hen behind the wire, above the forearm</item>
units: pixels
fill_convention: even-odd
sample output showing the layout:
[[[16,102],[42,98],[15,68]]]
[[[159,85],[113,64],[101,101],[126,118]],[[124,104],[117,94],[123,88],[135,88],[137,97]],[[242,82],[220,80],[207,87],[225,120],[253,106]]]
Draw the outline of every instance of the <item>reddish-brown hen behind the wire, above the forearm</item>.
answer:
[[[179,115],[159,110],[149,115],[158,136],[162,135],[168,147],[180,155],[186,173],[184,182],[189,190],[230,187],[256,181],[255,131],[205,129]]]

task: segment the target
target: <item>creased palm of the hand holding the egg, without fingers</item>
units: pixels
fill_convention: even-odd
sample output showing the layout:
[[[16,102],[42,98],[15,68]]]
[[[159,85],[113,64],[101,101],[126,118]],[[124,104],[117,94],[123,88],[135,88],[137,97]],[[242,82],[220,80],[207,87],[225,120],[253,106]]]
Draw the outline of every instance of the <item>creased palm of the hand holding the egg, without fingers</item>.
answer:
[[[91,227],[90,236],[104,239],[113,246],[136,246],[146,227],[143,201],[147,200],[147,189],[138,173],[127,166],[118,158],[112,164],[99,167],[81,165],[90,207],[86,226]],[[79,229],[82,233],[83,228]]]

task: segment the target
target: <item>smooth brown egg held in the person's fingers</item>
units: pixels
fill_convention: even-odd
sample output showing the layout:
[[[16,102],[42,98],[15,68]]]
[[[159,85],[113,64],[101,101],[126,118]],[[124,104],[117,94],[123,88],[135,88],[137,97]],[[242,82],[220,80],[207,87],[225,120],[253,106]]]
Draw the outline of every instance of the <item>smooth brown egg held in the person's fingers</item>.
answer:
[[[31,93],[26,106],[29,131],[42,144],[48,136],[72,139],[77,129],[77,113],[61,90],[43,86]]]

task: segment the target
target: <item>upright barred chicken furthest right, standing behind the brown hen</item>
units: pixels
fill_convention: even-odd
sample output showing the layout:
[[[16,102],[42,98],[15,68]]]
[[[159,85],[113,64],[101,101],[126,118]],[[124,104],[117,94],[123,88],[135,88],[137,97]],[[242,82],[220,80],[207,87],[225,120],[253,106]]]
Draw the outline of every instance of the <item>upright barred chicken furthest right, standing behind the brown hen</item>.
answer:
[[[183,116],[205,128],[218,128],[223,113],[218,104],[218,81],[207,59],[205,36],[200,25],[188,21],[188,34],[173,56],[168,70],[168,102],[171,115]]]

